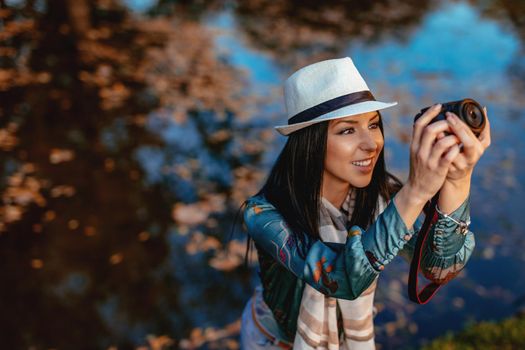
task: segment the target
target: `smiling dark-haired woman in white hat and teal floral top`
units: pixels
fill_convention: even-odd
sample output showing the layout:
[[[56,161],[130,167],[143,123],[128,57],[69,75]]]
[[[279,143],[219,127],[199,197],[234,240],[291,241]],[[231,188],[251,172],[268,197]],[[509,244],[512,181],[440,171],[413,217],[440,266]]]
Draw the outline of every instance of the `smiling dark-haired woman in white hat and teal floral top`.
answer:
[[[243,312],[241,346],[373,349],[377,277],[397,254],[412,256],[416,218],[438,191],[423,273],[443,284],[469,259],[474,236],[457,228],[469,222],[488,123],[478,139],[453,114],[430,123],[441,106],[430,108],[414,124],[402,185],[385,169],[379,113],[396,103],[376,101],[350,58],[300,69],[284,95],[288,124],[276,129],[287,143],[244,212],[262,286]]]

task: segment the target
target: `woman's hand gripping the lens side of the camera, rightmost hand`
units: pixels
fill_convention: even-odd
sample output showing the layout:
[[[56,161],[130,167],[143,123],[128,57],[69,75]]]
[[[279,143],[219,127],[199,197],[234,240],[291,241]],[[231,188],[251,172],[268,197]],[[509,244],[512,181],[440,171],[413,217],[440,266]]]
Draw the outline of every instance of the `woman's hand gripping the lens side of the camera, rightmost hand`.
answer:
[[[490,123],[487,109],[484,107],[486,125],[479,138],[472,130],[454,113],[447,112],[447,121],[453,133],[463,144],[463,152],[459,153],[449,167],[445,182],[470,181],[474,166],[479,161],[485,150],[490,146]]]

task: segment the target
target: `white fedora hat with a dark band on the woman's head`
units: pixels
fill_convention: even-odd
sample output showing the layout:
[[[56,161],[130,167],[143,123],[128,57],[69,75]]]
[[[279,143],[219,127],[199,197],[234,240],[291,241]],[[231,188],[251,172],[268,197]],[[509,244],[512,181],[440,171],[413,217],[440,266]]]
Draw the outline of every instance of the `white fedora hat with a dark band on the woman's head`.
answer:
[[[376,101],[350,57],[299,69],[284,83],[284,100],[288,124],[275,127],[282,135],[325,120],[397,105]]]

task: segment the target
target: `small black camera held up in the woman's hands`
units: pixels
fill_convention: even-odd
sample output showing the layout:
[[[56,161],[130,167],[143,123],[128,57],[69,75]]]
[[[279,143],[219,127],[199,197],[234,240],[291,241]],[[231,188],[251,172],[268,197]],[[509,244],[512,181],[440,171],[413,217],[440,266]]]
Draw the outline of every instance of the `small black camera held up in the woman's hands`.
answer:
[[[414,117],[414,123],[419,119],[429,108],[423,108],[416,116]],[[430,123],[436,122],[438,120],[445,120],[445,113],[452,112],[456,114],[459,119],[461,119],[465,124],[468,125],[470,130],[474,135],[479,136],[483,129],[485,128],[485,114],[480,104],[471,98],[465,98],[463,100],[445,102],[441,104],[441,111],[439,114],[430,121]]]

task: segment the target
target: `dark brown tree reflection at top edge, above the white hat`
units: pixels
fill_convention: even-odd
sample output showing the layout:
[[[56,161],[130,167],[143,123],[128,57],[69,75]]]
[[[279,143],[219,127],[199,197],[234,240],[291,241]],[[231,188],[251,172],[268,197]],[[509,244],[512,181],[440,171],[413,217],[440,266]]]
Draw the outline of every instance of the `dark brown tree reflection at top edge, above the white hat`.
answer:
[[[399,40],[421,21],[429,1],[239,1],[240,27],[251,45],[299,67],[340,56],[352,39]]]

